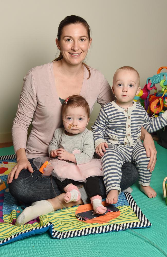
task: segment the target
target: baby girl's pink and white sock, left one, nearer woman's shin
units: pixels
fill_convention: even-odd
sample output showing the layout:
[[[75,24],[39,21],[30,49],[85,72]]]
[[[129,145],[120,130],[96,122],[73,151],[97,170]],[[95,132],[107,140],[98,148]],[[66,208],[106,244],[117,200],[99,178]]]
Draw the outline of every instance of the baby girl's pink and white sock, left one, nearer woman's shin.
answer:
[[[77,202],[81,199],[81,193],[79,192],[78,187],[72,185],[67,188],[67,193],[63,198],[66,203]]]

